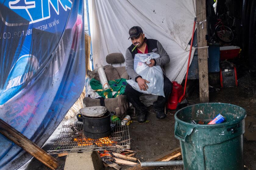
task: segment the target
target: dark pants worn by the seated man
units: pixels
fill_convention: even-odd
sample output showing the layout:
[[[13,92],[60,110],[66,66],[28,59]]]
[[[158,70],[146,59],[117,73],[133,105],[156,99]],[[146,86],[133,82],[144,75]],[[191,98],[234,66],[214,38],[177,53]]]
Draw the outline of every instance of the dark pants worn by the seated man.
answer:
[[[163,111],[165,108],[165,103],[168,100],[170,94],[172,93],[172,82],[164,75],[164,94],[163,96],[158,96],[157,100],[153,103],[153,107],[155,111]],[[147,107],[140,102],[140,95],[143,94],[135,89],[127,83],[125,94],[127,99],[135,109],[139,110],[140,112],[146,113]]]

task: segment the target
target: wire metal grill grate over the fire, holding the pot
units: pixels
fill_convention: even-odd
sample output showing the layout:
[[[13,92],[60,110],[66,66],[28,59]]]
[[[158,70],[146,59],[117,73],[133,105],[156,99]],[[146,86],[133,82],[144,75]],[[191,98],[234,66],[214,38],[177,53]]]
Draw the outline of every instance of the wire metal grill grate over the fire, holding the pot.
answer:
[[[66,124],[62,126],[57,140],[53,143],[48,154],[113,150],[130,147],[128,125],[120,122],[111,123],[110,137],[90,139],[84,136],[83,124]]]

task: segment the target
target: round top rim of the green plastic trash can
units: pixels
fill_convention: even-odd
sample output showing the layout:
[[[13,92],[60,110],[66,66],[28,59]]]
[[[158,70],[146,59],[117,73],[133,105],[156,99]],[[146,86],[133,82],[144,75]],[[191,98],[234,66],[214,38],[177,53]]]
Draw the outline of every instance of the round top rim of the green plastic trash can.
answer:
[[[227,104],[227,105],[234,105],[234,106],[237,106],[235,104],[229,104],[229,103],[199,103],[199,104],[193,104],[193,105],[190,105],[190,106],[187,106],[187,107],[191,107],[191,106],[194,106],[194,105],[203,105],[203,104]],[[241,116],[239,117],[238,119],[236,119],[235,121],[233,121],[232,123],[231,122],[224,122],[224,123],[220,123],[220,124],[191,124],[189,122],[185,122],[185,121],[182,121],[180,120],[178,117],[177,117],[177,114],[178,112],[180,112],[181,110],[183,109],[186,109],[187,107],[183,107],[182,109],[176,111],[175,115],[174,115],[174,118],[176,121],[179,121],[179,123],[182,123],[182,124],[186,124],[188,126],[193,126],[193,127],[202,127],[202,128],[213,128],[213,127],[226,127],[226,126],[229,126],[229,125],[232,125],[232,124],[236,124],[242,120],[245,119],[246,117],[246,110],[243,108],[243,107],[240,107],[240,106],[237,106],[237,107],[240,107],[242,110],[244,110],[244,116]]]

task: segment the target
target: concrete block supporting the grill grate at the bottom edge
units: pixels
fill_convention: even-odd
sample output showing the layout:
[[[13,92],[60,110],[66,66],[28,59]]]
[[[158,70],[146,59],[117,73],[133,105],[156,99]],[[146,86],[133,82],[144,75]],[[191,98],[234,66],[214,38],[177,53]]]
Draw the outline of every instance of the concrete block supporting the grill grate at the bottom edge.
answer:
[[[83,153],[69,153],[66,158],[64,170],[103,170],[98,151]]]

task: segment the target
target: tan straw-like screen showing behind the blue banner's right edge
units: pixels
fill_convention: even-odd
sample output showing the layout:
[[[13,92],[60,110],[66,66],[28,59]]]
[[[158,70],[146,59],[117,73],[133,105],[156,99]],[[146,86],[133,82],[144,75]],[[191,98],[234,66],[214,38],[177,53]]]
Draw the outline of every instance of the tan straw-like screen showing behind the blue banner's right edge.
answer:
[[[91,70],[91,67],[90,67],[91,37],[88,34],[85,34],[84,40],[85,40],[85,65],[86,65],[85,73],[87,74],[87,70]],[[76,100],[75,104],[73,104],[73,106],[69,109],[64,119],[67,120],[76,116],[76,113],[79,112],[80,109],[84,107],[84,104],[83,104],[84,97],[85,97],[85,87],[83,89],[82,94],[80,95],[78,100]]]

